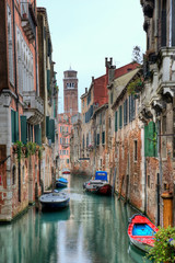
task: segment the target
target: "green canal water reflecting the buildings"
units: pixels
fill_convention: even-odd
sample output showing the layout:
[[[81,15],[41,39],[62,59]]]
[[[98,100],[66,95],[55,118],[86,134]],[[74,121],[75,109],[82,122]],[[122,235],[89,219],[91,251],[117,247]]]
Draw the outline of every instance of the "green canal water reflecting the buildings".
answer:
[[[128,218],[136,214],[117,197],[83,192],[88,178],[67,175],[70,206],[38,211],[34,206],[0,226],[0,263],[142,263],[130,245]]]

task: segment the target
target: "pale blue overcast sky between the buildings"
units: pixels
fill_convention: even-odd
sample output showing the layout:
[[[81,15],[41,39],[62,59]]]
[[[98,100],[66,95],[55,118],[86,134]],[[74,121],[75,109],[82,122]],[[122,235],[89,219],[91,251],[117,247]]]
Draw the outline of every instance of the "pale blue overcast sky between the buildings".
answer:
[[[132,60],[133,47],[145,50],[140,0],[37,0],[46,8],[59,85],[59,113],[63,112],[63,71],[78,71],[80,96],[92,76],[105,73],[105,57],[116,68]]]

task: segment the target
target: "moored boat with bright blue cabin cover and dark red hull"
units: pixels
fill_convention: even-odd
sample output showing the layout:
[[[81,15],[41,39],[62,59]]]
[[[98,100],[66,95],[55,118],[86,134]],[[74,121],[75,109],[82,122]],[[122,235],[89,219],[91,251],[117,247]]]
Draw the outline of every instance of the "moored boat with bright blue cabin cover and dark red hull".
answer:
[[[96,171],[95,179],[92,179],[83,184],[86,192],[94,194],[109,195],[112,194],[112,186],[107,181],[107,172]]]

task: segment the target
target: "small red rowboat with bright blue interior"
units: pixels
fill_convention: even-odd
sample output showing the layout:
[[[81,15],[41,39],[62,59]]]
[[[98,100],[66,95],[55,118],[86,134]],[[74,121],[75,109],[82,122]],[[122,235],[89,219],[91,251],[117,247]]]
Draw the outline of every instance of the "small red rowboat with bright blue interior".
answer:
[[[129,219],[128,236],[130,242],[144,252],[154,245],[158,228],[143,215],[133,215]]]

